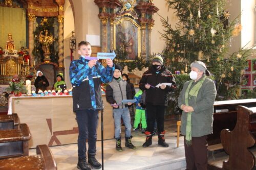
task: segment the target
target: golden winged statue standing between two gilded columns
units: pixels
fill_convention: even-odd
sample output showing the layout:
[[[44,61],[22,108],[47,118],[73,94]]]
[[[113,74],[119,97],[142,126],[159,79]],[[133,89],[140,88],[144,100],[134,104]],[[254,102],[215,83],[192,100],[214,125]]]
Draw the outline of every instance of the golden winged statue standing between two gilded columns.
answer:
[[[44,51],[45,54],[50,54],[49,46],[53,43],[53,36],[48,35],[48,30],[45,30],[45,35],[42,34],[42,31],[40,32],[38,39],[39,42],[42,44],[42,51]]]

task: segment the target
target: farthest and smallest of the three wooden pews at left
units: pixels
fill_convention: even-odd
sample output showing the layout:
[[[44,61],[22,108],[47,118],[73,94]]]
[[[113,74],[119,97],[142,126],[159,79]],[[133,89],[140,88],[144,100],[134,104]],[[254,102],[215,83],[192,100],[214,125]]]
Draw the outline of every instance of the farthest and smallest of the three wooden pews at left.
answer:
[[[0,130],[18,129],[19,118],[16,113],[0,115]]]

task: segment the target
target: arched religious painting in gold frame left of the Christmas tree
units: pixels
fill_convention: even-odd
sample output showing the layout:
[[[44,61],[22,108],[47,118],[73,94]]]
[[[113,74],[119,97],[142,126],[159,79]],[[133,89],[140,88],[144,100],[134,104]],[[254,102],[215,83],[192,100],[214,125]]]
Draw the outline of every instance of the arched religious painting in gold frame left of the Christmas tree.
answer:
[[[114,22],[114,49],[127,53],[127,60],[140,56],[140,26],[129,17]]]

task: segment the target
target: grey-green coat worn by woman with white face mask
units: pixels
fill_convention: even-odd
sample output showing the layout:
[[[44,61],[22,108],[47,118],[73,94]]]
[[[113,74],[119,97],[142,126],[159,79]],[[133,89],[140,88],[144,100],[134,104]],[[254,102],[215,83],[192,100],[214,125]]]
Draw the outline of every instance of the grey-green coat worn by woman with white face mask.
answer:
[[[201,78],[202,79],[202,78]],[[191,88],[198,83],[193,82]],[[184,83],[183,89],[180,92],[178,99],[179,107],[185,105],[185,92],[189,81]],[[191,89],[190,88],[190,89]],[[195,96],[188,96],[188,105],[192,106],[194,112],[191,114],[191,136],[200,137],[212,133],[212,123],[214,121],[214,101],[216,98],[216,87],[214,82],[206,78],[202,87],[198,91],[197,98]],[[195,100],[196,99],[196,100]],[[186,135],[187,113],[182,112],[181,116],[181,134]]]

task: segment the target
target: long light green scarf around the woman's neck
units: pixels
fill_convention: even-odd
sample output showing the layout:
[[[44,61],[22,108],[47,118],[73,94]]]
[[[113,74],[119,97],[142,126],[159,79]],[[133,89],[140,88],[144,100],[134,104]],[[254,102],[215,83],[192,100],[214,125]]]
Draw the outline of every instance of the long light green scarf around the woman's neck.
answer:
[[[195,101],[197,101],[197,94],[198,94],[198,91],[200,90],[200,88],[202,87],[202,84],[204,82],[204,80],[206,79],[206,76],[204,76],[195,86],[193,86],[191,89],[191,85],[192,83],[194,82],[194,80],[190,80],[189,82],[189,85],[186,89],[186,92],[185,92],[185,105],[188,106],[188,96],[190,98],[190,96],[195,96]],[[192,127],[192,124],[191,124],[191,115],[192,115],[192,112],[188,112],[187,113],[187,125],[186,125],[186,144],[188,146],[191,145],[191,127]]]

